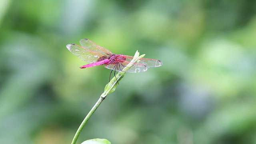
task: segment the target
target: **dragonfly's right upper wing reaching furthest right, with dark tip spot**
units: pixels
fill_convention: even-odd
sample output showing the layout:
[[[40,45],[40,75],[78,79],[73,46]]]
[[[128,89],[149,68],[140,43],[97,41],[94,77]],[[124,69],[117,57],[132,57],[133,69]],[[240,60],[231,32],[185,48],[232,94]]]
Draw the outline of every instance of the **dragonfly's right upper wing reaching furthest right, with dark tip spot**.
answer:
[[[130,62],[133,58],[133,56],[126,56],[126,61]],[[136,63],[146,65],[149,68],[162,66],[163,64],[162,61],[152,58],[138,58]]]

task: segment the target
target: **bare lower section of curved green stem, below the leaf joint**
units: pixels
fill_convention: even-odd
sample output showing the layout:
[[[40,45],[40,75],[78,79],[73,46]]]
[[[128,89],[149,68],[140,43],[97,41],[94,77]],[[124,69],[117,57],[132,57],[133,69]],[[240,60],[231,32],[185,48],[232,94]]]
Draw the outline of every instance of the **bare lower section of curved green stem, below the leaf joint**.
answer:
[[[84,118],[84,120],[82,121],[82,123],[80,124],[79,128],[76,131],[76,134],[71,142],[71,144],[76,144],[76,141],[78,139],[78,136],[80,134],[80,132],[82,131],[82,129],[84,128],[84,125],[86,124],[86,122],[89,120],[89,118],[92,116],[92,114],[95,112],[95,110],[100,106],[100,104],[102,103],[102,101],[105,98],[100,96],[100,98],[98,99],[98,101],[96,102],[96,104],[92,107],[92,109],[90,110],[90,112],[86,115],[86,117]]]

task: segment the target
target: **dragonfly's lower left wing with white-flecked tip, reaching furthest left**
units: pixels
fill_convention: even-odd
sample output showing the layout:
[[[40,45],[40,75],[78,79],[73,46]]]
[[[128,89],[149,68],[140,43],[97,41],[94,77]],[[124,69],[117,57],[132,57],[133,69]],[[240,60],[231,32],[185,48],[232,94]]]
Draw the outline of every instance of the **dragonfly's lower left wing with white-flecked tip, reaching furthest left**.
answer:
[[[78,58],[89,63],[97,62],[97,60],[103,56],[103,54],[99,54],[87,48],[83,48],[77,44],[68,44],[66,47]]]

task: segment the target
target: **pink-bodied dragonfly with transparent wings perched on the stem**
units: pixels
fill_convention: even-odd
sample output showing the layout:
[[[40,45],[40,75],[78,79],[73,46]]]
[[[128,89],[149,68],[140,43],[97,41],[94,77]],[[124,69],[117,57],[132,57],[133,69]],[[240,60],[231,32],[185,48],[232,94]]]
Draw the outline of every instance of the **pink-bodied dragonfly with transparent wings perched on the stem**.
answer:
[[[133,56],[123,54],[113,54],[110,50],[98,46],[87,38],[80,40],[80,44],[81,46],[77,44],[66,45],[70,52],[81,60],[90,63],[80,66],[80,68],[89,68],[105,64],[104,67],[111,70],[110,76],[113,70],[115,72],[122,71],[134,58]],[[162,66],[162,61],[152,58],[138,58],[138,60],[125,72],[145,72],[149,67],[158,66]]]

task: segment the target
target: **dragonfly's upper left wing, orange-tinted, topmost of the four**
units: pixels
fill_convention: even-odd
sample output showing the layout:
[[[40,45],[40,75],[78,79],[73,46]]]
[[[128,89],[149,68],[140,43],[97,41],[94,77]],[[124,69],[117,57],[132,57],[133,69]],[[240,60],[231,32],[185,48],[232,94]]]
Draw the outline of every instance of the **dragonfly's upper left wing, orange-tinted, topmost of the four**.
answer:
[[[97,44],[95,44],[91,40],[88,40],[87,38],[84,38],[84,39],[80,40],[80,44],[84,48],[87,48],[87,49],[92,50],[94,52],[98,52],[98,53],[106,54],[106,55],[111,55],[112,54],[112,52],[110,52],[110,50],[107,50],[106,48],[102,48],[101,46],[98,46]]]

